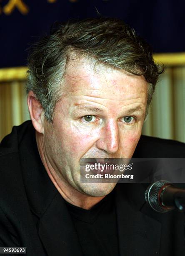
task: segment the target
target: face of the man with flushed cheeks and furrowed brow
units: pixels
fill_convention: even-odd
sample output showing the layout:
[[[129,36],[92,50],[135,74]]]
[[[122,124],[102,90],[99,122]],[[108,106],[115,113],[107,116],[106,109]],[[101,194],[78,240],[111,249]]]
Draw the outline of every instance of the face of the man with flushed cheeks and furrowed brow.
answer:
[[[85,59],[68,64],[65,96],[54,123],[45,121],[47,161],[60,180],[79,192],[100,197],[112,183],[80,183],[81,158],[131,158],[139,141],[147,104],[143,76],[98,66]]]

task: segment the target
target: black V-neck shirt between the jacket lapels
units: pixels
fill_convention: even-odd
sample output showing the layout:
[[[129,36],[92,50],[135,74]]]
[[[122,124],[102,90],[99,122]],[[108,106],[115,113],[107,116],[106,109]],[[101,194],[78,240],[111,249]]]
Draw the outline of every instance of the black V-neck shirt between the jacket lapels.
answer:
[[[118,256],[114,190],[90,210],[66,202],[85,256]]]

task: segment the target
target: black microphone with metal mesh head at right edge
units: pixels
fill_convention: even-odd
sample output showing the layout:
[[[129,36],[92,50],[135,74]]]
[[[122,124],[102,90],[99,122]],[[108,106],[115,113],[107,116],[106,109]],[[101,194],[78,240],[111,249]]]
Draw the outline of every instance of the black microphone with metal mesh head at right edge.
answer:
[[[185,189],[165,180],[150,184],[145,192],[145,200],[157,212],[168,212],[175,208],[185,212]]]

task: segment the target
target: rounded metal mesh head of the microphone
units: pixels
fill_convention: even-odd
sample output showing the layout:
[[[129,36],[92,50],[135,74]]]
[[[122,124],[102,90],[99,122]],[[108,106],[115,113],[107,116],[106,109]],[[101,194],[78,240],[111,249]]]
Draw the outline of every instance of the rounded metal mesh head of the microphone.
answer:
[[[145,191],[145,200],[153,208],[153,210],[157,212],[169,212],[171,209],[165,208],[160,204],[159,196],[160,196],[160,189],[170,184],[170,182],[166,180],[160,180],[153,184],[150,184]]]

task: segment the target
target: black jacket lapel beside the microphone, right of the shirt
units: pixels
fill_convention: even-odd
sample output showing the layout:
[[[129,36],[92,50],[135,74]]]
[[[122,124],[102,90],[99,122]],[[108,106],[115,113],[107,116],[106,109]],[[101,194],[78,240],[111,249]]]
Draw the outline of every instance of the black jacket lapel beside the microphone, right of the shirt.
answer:
[[[138,198],[133,197],[133,191]],[[143,211],[148,212],[144,192],[141,184],[117,184],[116,186],[120,256],[159,255],[161,224],[143,213]]]

